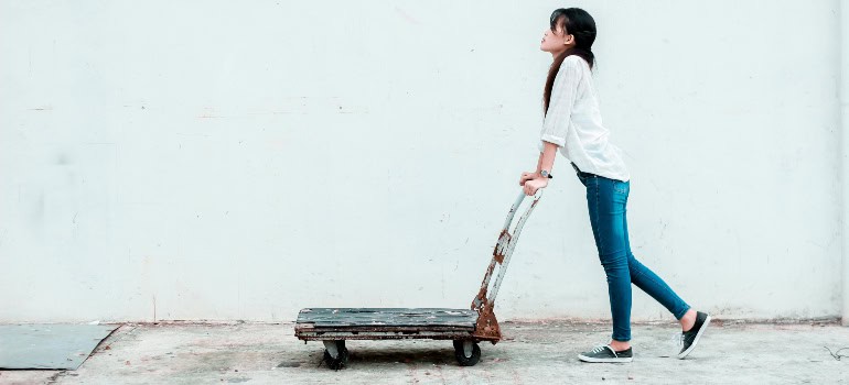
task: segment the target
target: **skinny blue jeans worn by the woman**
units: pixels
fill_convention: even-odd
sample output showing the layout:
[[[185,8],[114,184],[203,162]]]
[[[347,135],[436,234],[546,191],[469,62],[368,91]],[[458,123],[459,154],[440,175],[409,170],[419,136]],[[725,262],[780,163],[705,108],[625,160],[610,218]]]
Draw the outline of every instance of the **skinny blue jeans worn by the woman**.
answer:
[[[631,340],[632,283],[680,320],[690,306],[631,253],[625,219],[625,205],[631,183],[582,173],[577,167],[576,170],[578,178],[587,186],[587,205],[590,209],[592,234],[595,237],[595,248],[599,250],[601,265],[604,266],[604,273],[608,275],[613,339]]]

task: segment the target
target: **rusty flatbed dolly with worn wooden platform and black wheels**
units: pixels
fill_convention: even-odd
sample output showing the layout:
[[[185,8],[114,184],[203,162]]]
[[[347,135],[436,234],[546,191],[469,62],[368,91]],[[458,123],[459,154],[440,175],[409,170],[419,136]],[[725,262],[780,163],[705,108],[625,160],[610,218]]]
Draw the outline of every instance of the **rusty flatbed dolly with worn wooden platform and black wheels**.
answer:
[[[493,312],[495,296],[498,294],[522,227],[541,198],[541,191],[542,189],[537,190],[512,233],[509,230],[513,218],[526,197],[524,191],[511,207],[471,309],[305,308],[298,314],[294,336],[304,343],[322,341],[325,348],[324,362],[334,370],[347,364],[348,350],[345,348],[345,340],[451,340],[454,344],[454,358],[461,366],[476,364],[481,360],[481,348],[477,343],[488,341],[495,344],[502,339],[498,320]],[[496,266],[498,274],[492,280]]]

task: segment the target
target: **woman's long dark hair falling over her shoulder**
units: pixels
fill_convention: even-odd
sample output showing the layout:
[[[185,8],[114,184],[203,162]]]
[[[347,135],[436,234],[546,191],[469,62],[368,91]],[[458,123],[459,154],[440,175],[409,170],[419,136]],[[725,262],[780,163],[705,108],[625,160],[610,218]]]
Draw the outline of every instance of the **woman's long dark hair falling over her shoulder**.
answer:
[[[555,57],[551,68],[548,69],[546,90],[542,94],[542,112],[548,112],[548,103],[551,101],[551,88],[555,86],[555,77],[560,65],[568,56],[577,55],[587,61],[592,68],[595,65],[595,55],[592,53],[592,43],[595,42],[595,20],[580,8],[560,8],[551,12],[551,32],[557,26],[562,26],[565,34],[574,36],[574,47],[566,50]]]

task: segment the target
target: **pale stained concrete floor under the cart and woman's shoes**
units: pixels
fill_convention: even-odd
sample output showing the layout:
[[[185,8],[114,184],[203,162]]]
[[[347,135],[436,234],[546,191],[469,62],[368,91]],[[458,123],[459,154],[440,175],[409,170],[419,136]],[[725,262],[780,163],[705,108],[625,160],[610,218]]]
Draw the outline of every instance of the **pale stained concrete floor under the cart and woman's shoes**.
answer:
[[[0,384],[849,384],[849,356],[824,348],[849,346],[836,323],[717,321],[686,360],[670,358],[675,324],[634,324],[633,363],[585,364],[576,354],[606,341],[606,323],[506,322],[476,366],[458,366],[445,341],[348,341],[337,372],[292,327],[128,323],[77,371],[0,371]]]

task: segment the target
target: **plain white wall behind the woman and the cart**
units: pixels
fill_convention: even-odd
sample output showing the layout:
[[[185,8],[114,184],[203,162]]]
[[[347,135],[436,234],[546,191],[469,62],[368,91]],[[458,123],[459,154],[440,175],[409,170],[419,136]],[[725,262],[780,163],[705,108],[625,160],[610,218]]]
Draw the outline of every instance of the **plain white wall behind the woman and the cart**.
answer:
[[[4,1],[0,321],[466,307],[536,165],[563,6],[599,25],[637,257],[720,317],[838,317],[836,0]],[[609,317],[570,169],[503,319]]]

